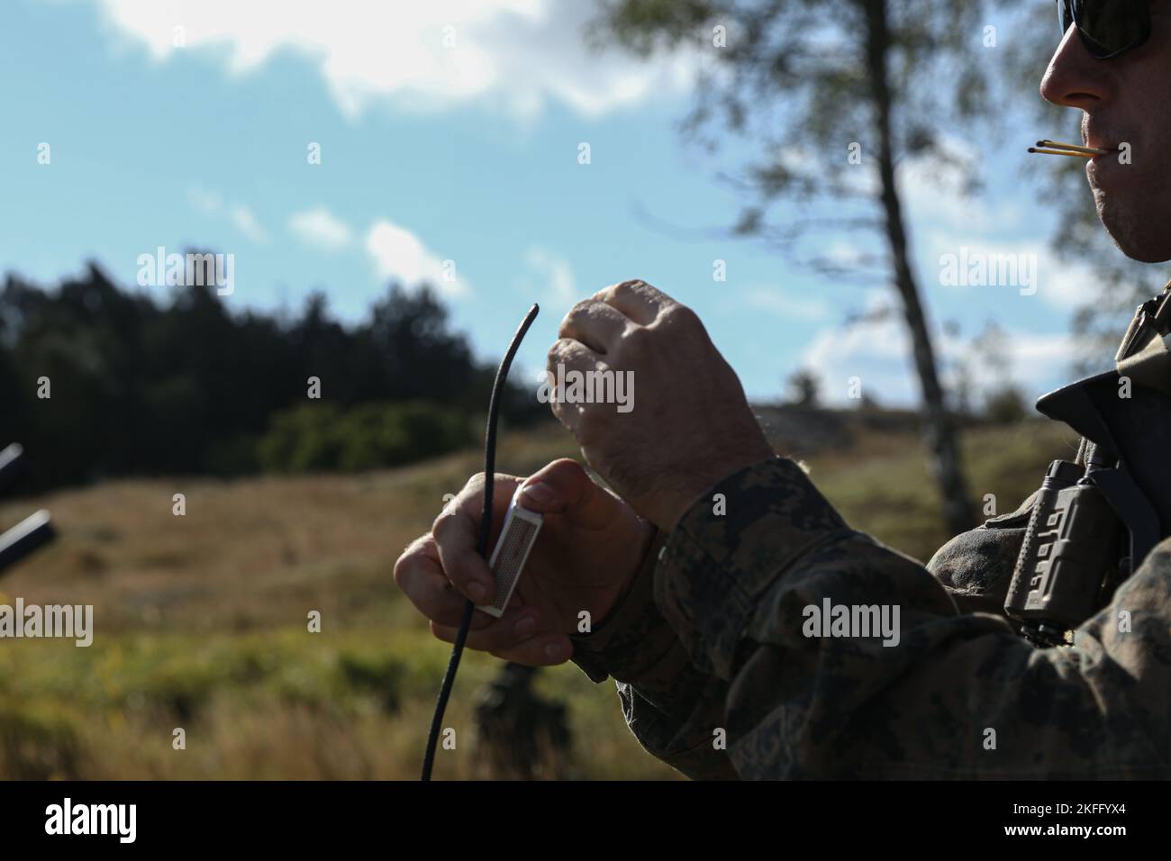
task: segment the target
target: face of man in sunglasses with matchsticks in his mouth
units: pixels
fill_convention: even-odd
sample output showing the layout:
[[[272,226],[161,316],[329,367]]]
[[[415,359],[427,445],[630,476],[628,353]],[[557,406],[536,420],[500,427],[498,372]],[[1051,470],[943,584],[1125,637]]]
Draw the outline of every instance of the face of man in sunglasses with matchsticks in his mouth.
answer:
[[[1130,144],[1086,166],[1097,214],[1127,257],[1171,260],[1171,0],[1152,0],[1151,37],[1112,60],[1095,60],[1070,27],[1049,61],[1041,95],[1080,108],[1087,146]]]

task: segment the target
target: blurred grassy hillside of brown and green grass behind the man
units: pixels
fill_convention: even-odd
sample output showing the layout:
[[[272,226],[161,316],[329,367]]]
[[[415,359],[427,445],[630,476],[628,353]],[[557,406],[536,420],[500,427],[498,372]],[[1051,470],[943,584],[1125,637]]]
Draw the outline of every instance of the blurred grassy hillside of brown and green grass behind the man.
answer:
[[[970,432],[973,493],[1009,511],[1076,440],[1048,423]],[[560,429],[506,435],[502,471],[575,456]],[[359,477],[111,481],[0,506],[52,510],[61,539],[0,580],[0,603],[93,603],[94,644],[0,641],[0,777],[404,778],[420,761],[448,647],[400,597],[391,566],[464,479],[467,452]],[[920,559],[947,537],[919,440],[855,435],[806,458],[852,525]],[[186,515],[171,513],[186,494]],[[322,631],[307,631],[319,610]],[[439,778],[488,777],[471,722],[499,668],[468,652]],[[671,778],[630,736],[612,683],[541,674],[568,704],[581,778]],[[186,750],[172,749],[172,731]]]

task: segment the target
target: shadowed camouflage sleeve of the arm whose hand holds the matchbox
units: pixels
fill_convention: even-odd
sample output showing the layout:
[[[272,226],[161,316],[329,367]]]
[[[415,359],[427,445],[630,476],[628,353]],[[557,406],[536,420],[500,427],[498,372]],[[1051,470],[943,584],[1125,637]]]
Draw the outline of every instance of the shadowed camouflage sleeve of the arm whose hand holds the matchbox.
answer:
[[[696,669],[655,606],[659,533],[626,595],[590,634],[570,637],[573,661],[594,682],[612,676],[626,725],[652,756],[696,779],[734,779],[727,751],[713,744],[726,724],[727,684]]]

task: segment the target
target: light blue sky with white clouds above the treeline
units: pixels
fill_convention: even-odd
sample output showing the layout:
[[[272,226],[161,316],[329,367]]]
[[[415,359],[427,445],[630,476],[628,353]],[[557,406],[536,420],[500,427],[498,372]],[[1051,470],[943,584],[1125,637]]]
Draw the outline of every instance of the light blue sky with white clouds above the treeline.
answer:
[[[740,211],[714,175],[747,150],[732,143],[713,158],[680,137],[698,60],[588,53],[588,11],[546,0],[9,0],[0,272],[50,285],[93,259],[131,286],[139,254],[198,246],[234,254],[232,307],[295,308],[324,289],[354,321],[390,278],[411,282],[451,260],[445,298],[481,356],[498,356],[541,302],[520,358],[527,377],[574,301],[642,278],[700,314],[749,396],[778,397],[809,365],[831,401],[858,376],[882,401],[913,402],[897,321],[842,328],[845,312],[886,296],[883,285],[836,285],[707,232]],[[933,185],[923,165],[904,164],[900,182],[943,350],[963,354],[964,339],[995,321],[1011,335],[1014,378],[1040,394],[1069,378],[1070,310],[1087,278],[1047,250],[1052,219],[1021,183],[1032,141],[1019,137],[993,145],[979,199]],[[37,163],[41,143],[49,164]],[[819,234],[812,251],[874,241]],[[940,283],[940,255],[964,247],[1035,254],[1038,293]],[[960,321],[960,339],[938,332],[945,320]]]

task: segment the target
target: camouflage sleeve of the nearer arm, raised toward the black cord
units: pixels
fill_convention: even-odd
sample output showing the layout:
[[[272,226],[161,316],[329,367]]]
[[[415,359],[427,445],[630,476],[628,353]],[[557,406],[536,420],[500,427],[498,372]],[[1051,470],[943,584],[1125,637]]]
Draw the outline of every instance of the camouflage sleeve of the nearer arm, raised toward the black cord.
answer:
[[[689,510],[655,599],[696,668],[727,683],[741,778],[1171,777],[1171,541],[1073,648],[1034,649],[1002,616],[959,613],[776,458]],[[827,602],[898,608],[897,644],[806,636],[806,608]]]

